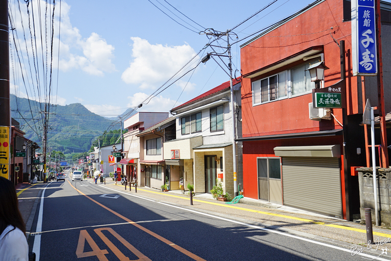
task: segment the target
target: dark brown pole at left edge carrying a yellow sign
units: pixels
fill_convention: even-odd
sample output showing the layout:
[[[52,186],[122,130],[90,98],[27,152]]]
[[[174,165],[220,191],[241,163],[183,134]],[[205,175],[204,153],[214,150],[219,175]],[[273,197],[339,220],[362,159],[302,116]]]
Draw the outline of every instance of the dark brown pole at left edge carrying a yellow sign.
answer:
[[[9,179],[11,144],[11,109],[9,98],[8,0],[0,0],[0,142],[8,143],[0,150],[0,176]]]

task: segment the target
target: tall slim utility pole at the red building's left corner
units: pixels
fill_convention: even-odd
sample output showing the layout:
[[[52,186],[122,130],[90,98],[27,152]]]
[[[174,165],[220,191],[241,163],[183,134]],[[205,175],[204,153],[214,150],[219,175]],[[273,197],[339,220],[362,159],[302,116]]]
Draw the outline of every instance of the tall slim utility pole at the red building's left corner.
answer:
[[[229,57],[229,74],[230,74],[230,79],[229,79],[229,84],[230,84],[230,90],[231,90],[231,104],[232,104],[232,112],[231,112],[231,117],[232,117],[232,163],[234,166],[234,195],[238,196],[238,174],[237,174],[237,162],[236,162],[236,117],[235,117],[235,102],[234,102],[234,88],[232,86],[232,64],[231,64],[231,46],[229,44],[229,32],[227,31],[227,44],[228,44],[228,57]],[[193,204],[192,204],[193,205]]]

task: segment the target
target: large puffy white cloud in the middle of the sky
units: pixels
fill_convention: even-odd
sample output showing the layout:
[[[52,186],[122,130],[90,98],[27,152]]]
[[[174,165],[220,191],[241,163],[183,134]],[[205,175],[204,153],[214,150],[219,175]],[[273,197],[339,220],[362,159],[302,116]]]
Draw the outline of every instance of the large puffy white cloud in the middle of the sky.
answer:
[[[131,37],[133,41],[130,67],[122,73],[128,84],[139,84],[140,88],[156,88],[162,81],[173,76],[191,58],[195,51],[188,44],[183,46],[151,45],[147,40]]]

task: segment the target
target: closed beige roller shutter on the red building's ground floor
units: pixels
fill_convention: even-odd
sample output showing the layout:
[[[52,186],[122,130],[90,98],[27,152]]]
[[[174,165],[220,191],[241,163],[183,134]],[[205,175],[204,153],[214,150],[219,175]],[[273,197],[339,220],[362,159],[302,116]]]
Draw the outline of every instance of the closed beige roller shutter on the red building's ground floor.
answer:
[[[338,158],[282,157],[284,205],[342,218]]]

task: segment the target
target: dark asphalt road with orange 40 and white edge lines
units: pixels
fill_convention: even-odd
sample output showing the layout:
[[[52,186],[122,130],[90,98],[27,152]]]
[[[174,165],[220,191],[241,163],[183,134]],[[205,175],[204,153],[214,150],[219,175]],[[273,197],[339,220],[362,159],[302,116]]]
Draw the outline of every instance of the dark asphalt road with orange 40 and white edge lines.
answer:
[[[43,190],[33,231],[30,251],[37,261],[363,260],[329,243],[120,193],[91,180],[72,182],[69,175]]]

